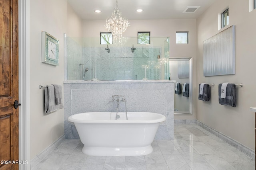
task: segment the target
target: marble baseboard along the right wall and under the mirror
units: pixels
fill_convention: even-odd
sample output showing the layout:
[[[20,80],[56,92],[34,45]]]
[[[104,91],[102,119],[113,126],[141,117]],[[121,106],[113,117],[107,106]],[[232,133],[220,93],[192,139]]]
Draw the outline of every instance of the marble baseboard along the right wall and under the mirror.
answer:
[[[255,160],[255,151],[198,120],[174,120],[174,124],[196,124]]]

